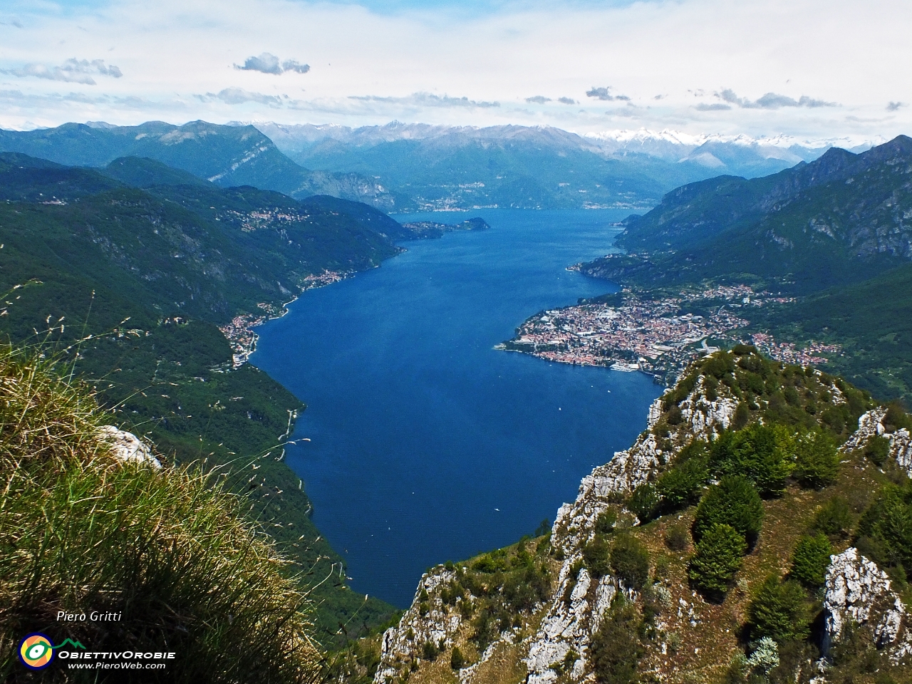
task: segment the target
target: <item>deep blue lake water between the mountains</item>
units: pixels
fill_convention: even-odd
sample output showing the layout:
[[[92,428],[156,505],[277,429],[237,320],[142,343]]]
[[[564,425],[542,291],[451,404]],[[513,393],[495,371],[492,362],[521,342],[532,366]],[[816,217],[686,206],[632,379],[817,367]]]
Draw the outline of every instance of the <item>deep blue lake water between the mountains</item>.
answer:
[[[253,363],[306,402],[287,462],[351,586],[408,606],[421,573],[531,534],[646,427],[640,373],[495,350],[528,316],[613,291],[565,267],[606,254],[627,212],[398,217],[484,232],[405,243],[257,329]]]

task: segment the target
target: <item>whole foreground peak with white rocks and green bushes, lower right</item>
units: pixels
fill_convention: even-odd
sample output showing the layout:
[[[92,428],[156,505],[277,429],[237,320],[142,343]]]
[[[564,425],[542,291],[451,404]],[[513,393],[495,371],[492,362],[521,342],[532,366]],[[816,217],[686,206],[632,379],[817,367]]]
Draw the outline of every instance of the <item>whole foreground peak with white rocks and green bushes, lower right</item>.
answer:
[[[430,568],[399,624],[340,672],[375,684],[909,681],[900,558],[912,546],[894,526],[912,510],[909,428],[905,411],[812,368],[747,346],[709,355],[583,479],[550,533]]]

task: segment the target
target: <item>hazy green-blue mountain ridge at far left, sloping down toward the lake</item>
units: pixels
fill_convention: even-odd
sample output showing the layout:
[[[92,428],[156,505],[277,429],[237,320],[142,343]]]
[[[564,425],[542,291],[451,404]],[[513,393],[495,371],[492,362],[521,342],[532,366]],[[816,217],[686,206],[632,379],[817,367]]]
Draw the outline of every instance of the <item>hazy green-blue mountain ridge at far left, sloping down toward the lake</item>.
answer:
[[[355,173],[308,171],[280,152],[253,126],[192,121],[172,126],[67,123],[56,129],[0,130],[0,150],[68,166],[106,166],[120,157],[149,158],[222,187],[253,185],[297,198],[331,194],[387,210],[395,198],[376,181]]]

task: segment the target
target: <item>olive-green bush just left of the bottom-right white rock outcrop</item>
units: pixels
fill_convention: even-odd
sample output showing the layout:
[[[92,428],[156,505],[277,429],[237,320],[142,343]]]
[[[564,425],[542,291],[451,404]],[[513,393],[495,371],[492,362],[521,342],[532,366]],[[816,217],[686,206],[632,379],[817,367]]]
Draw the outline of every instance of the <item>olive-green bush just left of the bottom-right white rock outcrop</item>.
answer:
[[[797,582],[782,582],[776,575],[767,577],[748,606],[751,638],[770,637],[782,642],[807,637],[805,598],[804,589]]]

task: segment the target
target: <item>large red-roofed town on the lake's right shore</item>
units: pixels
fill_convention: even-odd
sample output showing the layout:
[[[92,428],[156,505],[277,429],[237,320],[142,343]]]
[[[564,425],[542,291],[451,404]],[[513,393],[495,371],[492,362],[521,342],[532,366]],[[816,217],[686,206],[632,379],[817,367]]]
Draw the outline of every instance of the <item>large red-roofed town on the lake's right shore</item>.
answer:
[[[749,336],[743,330],[749,323],[738,315],[739,309],[792,301],[754,292],[747,285],[718,285],[654,299],[624,291],[536,314],[497,348],[577,366],[639,370],[665,383],[673,382],[695,358],[716,351],[719,347],[710,341],[750,340],[772,358],[802,366],[823,363],[822,355],[838,353],[836,345],[812,342],[798,348],[769,334]]]

